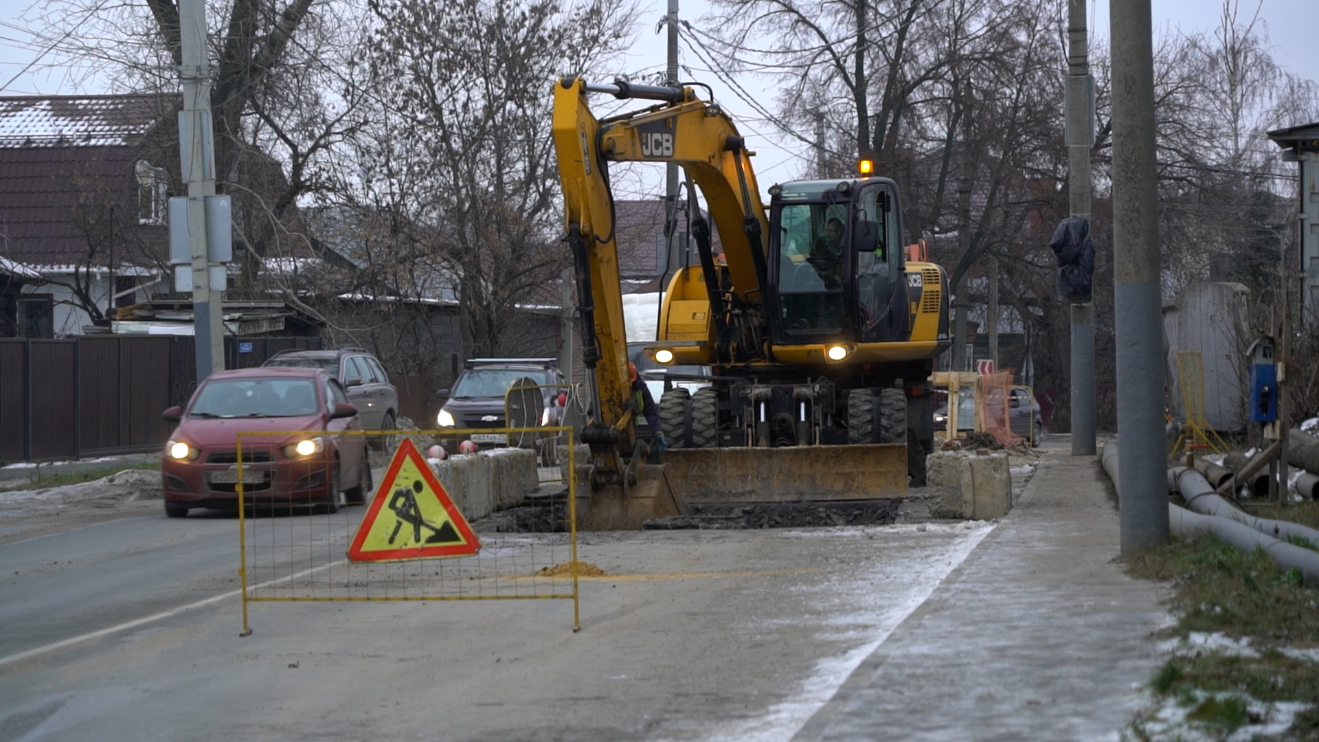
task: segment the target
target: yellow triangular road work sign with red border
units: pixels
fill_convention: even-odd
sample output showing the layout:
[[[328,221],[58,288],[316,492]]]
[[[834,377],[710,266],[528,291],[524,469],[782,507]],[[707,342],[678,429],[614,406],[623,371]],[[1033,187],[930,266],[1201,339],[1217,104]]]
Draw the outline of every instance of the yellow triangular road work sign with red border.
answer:
[[[408,438],[357,525],[350,561],[472,556],[481,543]]]

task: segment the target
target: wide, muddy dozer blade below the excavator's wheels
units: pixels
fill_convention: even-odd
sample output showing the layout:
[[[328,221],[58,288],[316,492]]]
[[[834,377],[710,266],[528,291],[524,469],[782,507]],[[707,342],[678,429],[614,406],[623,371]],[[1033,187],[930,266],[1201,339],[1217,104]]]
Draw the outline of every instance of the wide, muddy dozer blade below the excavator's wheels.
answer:
[[[662,461],[685,510],[907,495],[905,445],[670,449]]]

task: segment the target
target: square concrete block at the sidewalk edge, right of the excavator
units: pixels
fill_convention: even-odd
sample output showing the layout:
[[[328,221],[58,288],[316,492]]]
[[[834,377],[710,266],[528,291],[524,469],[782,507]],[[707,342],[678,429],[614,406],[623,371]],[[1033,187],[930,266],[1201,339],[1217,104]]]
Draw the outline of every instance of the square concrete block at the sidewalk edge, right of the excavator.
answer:
[[[988,520],[1012,510],[1012,474],[1004,452],[935,452],[926,467],[931,518]]]

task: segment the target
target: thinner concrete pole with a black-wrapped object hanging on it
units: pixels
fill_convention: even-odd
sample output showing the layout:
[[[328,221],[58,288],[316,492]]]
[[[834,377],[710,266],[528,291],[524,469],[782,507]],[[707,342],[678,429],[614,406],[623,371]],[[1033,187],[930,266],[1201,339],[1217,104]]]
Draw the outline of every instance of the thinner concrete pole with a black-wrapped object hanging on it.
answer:
[[[1067,3],[1067,195],[1072,217],[1089,219],[1091,114],[1087,0]],[[1095,455],[1095,308],[1071,305],[1071,440],[1072,455]]]

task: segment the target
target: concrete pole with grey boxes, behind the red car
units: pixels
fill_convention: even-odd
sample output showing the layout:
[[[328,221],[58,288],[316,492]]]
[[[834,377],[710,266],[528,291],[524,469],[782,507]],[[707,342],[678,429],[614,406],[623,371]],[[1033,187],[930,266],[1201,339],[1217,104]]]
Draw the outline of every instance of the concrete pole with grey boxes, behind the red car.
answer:
[[[187,234],[193,246],[193,331],[197,382],[224,370],[223,292],[211,290],[206,240],[206,197],[215,195],[215,147],[211,140],[211,67],[206,49],[204,0],[179,0],[183,111],[179,148],[187,181]]]

